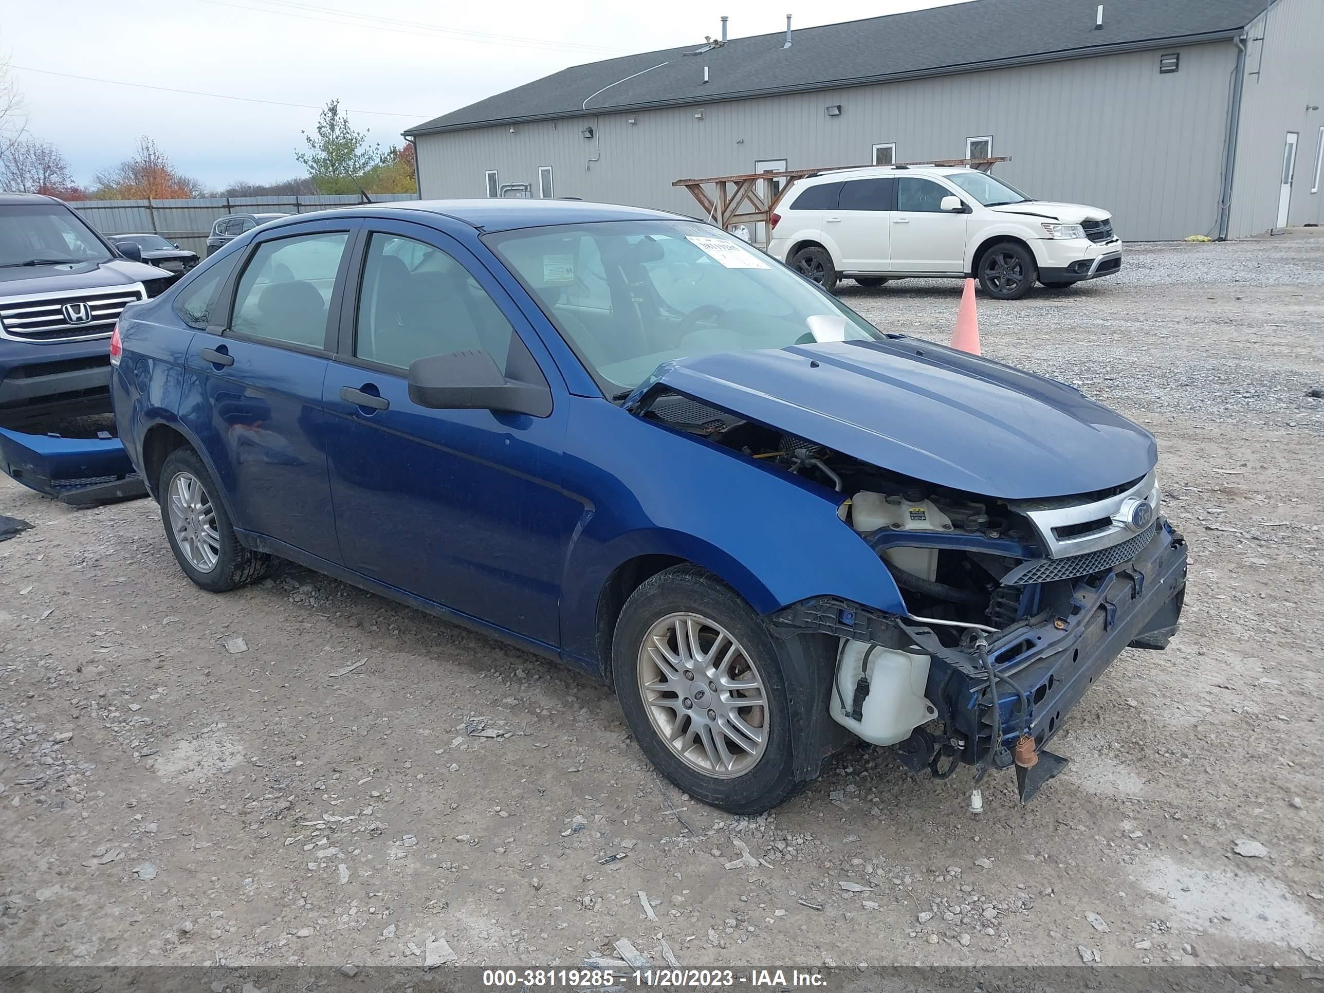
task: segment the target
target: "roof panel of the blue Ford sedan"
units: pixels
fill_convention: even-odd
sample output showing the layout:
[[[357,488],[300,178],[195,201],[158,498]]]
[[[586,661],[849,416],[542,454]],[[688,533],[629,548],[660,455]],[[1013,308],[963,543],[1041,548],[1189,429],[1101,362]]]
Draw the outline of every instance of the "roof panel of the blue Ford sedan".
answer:
[[[593,204],[583,200],[396,200],[389,204],[363,204],[316,214],[297,214],[326,218],[350,212],[357,217],[395,217],[409,213],[430,213],[467,224],[481,232],[515,230],[519,228],[545,228],[556,224],[592,224],[593,221],[694,220],[678,213],[650,211],[622,204]],[[290,222],[295,222],[294,218]]]

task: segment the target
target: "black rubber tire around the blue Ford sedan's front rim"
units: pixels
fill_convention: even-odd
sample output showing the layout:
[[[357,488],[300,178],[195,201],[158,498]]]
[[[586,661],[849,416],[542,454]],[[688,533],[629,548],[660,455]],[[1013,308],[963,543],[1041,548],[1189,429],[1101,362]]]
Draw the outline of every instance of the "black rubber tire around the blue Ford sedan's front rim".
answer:
[[[643,641],[655,624],[671,614],[688,612],[708,618],[737,642],[753,663],[751,671],[756,681],[763,685],[765,700],[763,708],[751,708],[745,716],[753,720],[757,715],[757,719],[764,722],[759,730],[767,731],[767,740],[763,752],[739,775],[727,777],[706,775],[686,761],[654,726],[649,716],[650,708],[643,702],[639,681]],[[793,776],[788,703],[789,694],[798,690],[788,686],[786,667],[763,621],[731,587],[711,573],[692,565],[677,565],[659,572],[634,591],[616,625],[612,642],[612,675],[625,720],[643,755],[663,776],[691,797],[733,814],[760,814],[777,806],[800,788],[801,784]],[[694,681],[690,686],[695,688],[687,692],[694,692],[695,696],[703,695],[702,681]],[[714,685],[710,683],[708,690],[712,688]],[[726,696],[731,698],[732,694],[728,692]],[[673,712],[677,715],[677,727],[682,727],[682,720],[695,720],[692,712],[683,718],[679,710]],[[730,748],[730,736],[726,741],[727,751],[735,753]],[[695,743],[692,748],[698,749],[699,744]],[[741,755],[739,759],[744,760],[745,756]]]

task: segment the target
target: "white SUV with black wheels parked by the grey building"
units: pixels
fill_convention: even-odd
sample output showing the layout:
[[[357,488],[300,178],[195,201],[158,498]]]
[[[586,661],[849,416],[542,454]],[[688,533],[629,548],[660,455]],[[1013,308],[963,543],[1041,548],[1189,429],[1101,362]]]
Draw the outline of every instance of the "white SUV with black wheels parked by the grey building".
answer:
[[[978,169],[873,166],[802,179],[772,214],[768,254],[825,290],[842,277],[978,278],[1014,301],[1121,269],[1112,214],[1031,200]]]

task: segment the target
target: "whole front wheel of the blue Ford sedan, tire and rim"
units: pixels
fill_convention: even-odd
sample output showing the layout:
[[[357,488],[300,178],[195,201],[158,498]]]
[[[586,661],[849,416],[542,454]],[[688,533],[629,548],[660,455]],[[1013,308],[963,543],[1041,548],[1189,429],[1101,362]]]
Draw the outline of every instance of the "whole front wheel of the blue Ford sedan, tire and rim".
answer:
[[[796,790],[786,673],[724,583],[687,565],[646,580],[621,612],[612,662],[634,739],[679,789],[736,814]]]

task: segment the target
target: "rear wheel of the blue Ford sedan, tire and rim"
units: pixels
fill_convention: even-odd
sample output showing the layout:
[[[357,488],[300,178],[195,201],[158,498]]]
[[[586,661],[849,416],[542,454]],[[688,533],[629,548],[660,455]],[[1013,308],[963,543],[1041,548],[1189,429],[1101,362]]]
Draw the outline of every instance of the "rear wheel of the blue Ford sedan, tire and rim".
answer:
[[[271,557],[240,544],[216,495],[216,482],[196,451],[180,448],[169,453],[156,493],[175,560],[199,587],[224,593],[266,575]]]

